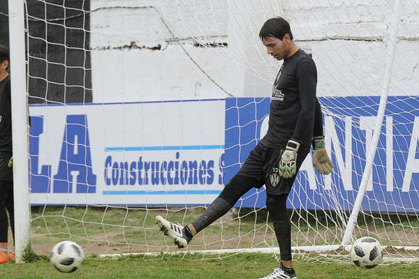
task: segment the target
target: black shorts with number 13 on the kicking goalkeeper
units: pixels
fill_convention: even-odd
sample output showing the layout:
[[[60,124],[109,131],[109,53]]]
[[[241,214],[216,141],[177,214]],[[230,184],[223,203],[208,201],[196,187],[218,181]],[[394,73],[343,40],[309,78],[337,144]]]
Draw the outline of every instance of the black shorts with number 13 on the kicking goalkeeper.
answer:
[[[266,187],[266,193],[270,195],[288,194],[293,187],[295,176],[284,179],[279,176],[279,160],[281,160],[284,149],[277,149],[258,143],[250,152],[246,162],[242,165],[238,175],[252,177],[257,179],[258,183],[254,187]],[[302,162],[307,157],[309,151],[299,150],[297,153],[297,172]]]

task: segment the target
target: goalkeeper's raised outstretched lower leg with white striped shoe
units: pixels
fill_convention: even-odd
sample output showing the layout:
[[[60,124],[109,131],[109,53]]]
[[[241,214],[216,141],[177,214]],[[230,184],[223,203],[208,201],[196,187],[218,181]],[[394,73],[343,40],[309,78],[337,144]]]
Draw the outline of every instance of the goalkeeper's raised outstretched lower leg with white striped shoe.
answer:
[[[156,224],[161,232],[175,241],[178,248],[188,245],[195,234],[211,225],[215,220],[226,214],[250,188],[256,185],[256,179],[247,176],[236,175],[231,179],[221,194],[214,199],[207,210],[193,223],[182,226],[172,223],[161,216],[156,217]]]

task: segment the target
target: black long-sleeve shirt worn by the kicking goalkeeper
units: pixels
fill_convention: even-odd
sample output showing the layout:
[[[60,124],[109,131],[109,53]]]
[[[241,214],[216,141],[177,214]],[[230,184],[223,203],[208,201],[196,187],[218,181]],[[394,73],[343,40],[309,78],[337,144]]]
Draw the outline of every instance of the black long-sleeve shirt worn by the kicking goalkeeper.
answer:
[[[293,139],[300,142],[300,149],[310,149],[314,133],[323,135],[316,86],[316,64],[309,54],[298,50],[284,59],[272,88],[269,128],[262,144],[284,149]]]

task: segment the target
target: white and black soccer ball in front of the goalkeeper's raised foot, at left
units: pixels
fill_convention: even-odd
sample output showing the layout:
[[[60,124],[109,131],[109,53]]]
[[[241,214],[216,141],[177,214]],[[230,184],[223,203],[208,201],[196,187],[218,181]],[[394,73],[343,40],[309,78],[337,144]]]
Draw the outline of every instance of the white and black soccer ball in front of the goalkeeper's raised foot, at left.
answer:
[[[50,261],[61,272],[71,273],[82,265],[84,252],[78,243],[62,241],[52,248]]]

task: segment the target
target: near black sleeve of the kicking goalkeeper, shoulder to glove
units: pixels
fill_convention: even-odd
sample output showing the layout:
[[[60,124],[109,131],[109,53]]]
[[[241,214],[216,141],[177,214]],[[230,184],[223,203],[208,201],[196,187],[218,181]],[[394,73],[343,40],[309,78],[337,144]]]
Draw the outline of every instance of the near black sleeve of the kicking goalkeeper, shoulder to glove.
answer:
[[[317,70],[314,62],[309,59],[301,60],[297,65],[296,77],[300,89],[301,110],[292,139],[297,142],[311,141],[317,100]]]

